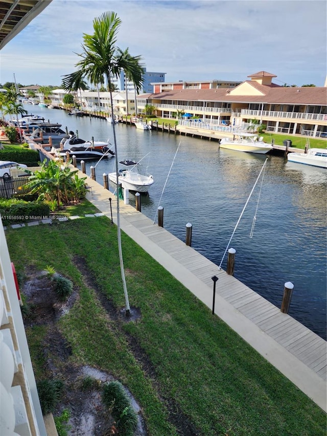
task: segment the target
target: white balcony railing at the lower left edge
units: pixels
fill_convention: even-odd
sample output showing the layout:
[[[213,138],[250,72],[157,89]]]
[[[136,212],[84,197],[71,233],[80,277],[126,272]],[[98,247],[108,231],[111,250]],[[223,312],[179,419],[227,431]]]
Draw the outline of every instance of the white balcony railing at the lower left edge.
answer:
[[[6,240],[1,219],[0,238]],[[6,243],[0,246],[0,326],[0,434],[46,434]]]

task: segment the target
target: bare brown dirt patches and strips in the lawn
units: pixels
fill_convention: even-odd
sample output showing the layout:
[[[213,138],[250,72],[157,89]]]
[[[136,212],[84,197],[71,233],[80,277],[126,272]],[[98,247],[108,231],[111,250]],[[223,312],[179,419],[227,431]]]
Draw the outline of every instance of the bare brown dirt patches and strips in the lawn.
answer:
[[[125,310],[117,309],[98,289],[91,272],[85,266],[85,261],[76,258],[74,263],[78,265],[85,285],[96,292],[107,316],[116,322],[118,328],[123,329],[124,323],[135,322],[142,316],[141,311],[135,307],[131,307],[129,316],[126,316]],[[102,383],[113,380],[113,377],[90,366],[72,364],[68,359],[72,354],[71,347],[57,328],[60,316],[67,313],[78,300],[78,291],[74,288],[68,300],[65,303],[60,303],[49,274],[46,271],[29,270],[26,281],[21,287],[21,292],[25,295],[27,304],[31,306],[32,313],[26,317],[24,323],[26,327],[35,325],[48,327],[43,348],[43,356],[46,361],[44,373],[46,378],[64,380],[64,395],[57,414],[60,415],[65,408],[71,412],[71,418],[68,422],[71,429],[68,434],[70,436],[107,436],[115,433],[111,430],[112,419],[101,402],[100,387]],[[176,426],[178,434],[198,436],[200,433],[193,427],[188,418],[183,416],[175,401],[160,395],[160,385],[156,380],[155,369],[145,351],[134,337],[129,337],[126,332],[125,335],[135,359],[144,373],[152,380],[159,398],[167,405],[170,421]],[[82,383],[86,376],[98,382],[87,391]],[[126,393],[138,417],[135,436],[146,436],[147,429],[141,408],[127,388]]]

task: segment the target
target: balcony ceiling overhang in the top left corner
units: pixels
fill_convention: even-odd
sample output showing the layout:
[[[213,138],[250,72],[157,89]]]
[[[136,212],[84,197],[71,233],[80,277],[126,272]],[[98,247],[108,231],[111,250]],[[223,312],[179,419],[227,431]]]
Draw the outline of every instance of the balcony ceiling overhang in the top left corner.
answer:
[[[52,0],[0,0],[0,50]]]

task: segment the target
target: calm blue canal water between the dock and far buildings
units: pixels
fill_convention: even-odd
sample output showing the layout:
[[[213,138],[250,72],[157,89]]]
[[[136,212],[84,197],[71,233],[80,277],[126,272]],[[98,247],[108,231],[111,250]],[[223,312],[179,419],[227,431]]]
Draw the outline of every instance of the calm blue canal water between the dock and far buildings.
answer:
[[[78,130],[82,139],[94,136],[95,141],[109,138],[113,143],[112,125],[104,120],[32,105],[26,109]],[[326,171],[283,157],[219,150],[215,142],[115,127],[119,160],[143,158],[140,171],[154,178],[149,196],[142,196],[142,213],[157,222],[162,195],[165,228],[184,241],[185,224],[191,222],[192,247],[217,265],[268,158],[263,181],[256,185],[230,243],[236,249],[235,277],[277,307],[284,283],[292,282],[289,314],[326,339]],[[103,173],[114,171],[114,158],[86,163],[88,175],[90,165],[101,183]],[[131,193],[129,202],[135,205]]]

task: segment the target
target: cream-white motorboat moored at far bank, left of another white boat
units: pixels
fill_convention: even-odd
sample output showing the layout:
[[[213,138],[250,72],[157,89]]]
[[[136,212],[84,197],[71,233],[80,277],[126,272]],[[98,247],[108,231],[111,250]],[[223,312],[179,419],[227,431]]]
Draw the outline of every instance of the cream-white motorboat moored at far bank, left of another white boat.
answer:
[[[220,148],[265,154],[272,150],[272,145],[265,143],[263,137],[255,133],[235,133],[233,139],[225,137],[220,140]]]

